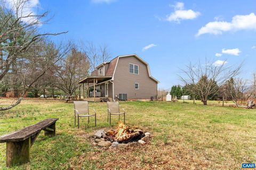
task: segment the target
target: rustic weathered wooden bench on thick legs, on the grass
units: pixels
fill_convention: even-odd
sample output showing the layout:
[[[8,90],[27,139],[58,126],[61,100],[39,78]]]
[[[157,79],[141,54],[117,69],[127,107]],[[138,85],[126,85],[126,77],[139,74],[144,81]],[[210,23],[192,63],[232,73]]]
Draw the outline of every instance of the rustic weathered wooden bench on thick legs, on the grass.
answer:
[[[30,147],[38,134],[44,130],[44,135],[55,136],[55,123],[58,120],[59,118],[48,118],[0,137],[0,143],[6,142],[6,166],[11,167],[29,162]]]

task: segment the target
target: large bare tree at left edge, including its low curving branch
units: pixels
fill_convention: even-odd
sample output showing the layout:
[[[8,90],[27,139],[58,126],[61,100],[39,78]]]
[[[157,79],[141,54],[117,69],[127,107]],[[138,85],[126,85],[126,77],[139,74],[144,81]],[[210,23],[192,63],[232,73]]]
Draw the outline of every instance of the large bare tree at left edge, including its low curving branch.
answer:
[[[31,3],[30,0],[7,2],[0,1],[0,81],[10,72],[11,66],[19,62],[22,67],[19,71],[15,71],[15,74],[19,75],[18,78],[23,87],[21,97],[11,105],[1,107],[0,111],[18,105],[28,89],[45,74],[47,63],[53,58],[56,59],[57,56],[53,54],[42,54],[47,36],[65,33],[39,33],[38,27],[45,22],[43,19],[45,19],[47,12],[43,14],[29,12],[27,7]],[[28,81],[27,75],[32,69],[29,62],[36,64],[36,61],[45,63],[45,65],[36,70],[33,80]]]

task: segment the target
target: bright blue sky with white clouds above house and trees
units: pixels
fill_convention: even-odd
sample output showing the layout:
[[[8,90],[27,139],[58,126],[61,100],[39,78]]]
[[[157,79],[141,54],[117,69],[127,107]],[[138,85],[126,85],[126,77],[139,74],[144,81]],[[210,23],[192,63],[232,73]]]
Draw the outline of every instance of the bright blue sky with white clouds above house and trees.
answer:
[[[151,74],[161,82],[159,88],[181,83],[179,68],[205,57],[216,64],[245,61],[244,72],[249,73],[245,78],[256,71],[254,0],[39,0],[38,4],[53,15],[42,31],[69,31],[53,41],[105,43],[113,58],[136,53],[149,63]]]

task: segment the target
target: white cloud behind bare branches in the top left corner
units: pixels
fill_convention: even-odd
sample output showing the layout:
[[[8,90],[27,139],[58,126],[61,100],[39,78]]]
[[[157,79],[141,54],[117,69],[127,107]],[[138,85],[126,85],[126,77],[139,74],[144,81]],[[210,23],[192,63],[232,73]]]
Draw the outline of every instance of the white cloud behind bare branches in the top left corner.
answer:
[[[22,1],[20,0],[6,0],[6,7],[11,8],[16,11],[16,7],[18,3],[21,3]],[[18,15],[20,16],[28,16],[28,15],[36,15],[35,8],[39,5],[39,0],[30,0],[22,4],[22,9],[19,8]],[[36,22],[34,16],[22,18],[22,21],[31,23],[31,22]]]

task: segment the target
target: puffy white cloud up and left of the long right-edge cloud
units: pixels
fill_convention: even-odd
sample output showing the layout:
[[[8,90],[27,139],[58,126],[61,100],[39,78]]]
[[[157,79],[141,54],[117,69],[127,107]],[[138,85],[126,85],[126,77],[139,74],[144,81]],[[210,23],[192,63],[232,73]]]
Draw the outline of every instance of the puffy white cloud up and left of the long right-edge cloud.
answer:
[[[174,12],[166,16],[167,21],[174,21],[180,23],[181,20],[193,20],[200,15],[200,12],[195,12],[193,10],[184,10],[184,3],[177,2],[174,7]]]

